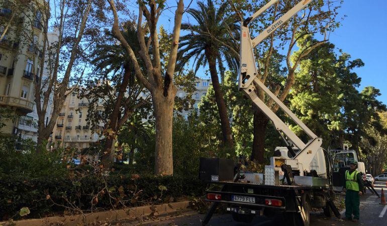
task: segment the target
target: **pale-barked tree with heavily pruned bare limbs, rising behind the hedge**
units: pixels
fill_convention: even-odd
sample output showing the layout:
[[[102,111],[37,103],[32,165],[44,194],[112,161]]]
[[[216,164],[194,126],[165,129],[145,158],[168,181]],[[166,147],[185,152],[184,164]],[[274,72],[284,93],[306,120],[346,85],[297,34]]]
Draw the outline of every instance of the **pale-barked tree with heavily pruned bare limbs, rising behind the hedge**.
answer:
[[[137,22],[137,37],[140,45],[139,55],[143,60],[146,72],[141,70],[132,45],[125,40],[120,29],[118,11],[114,0],[107,0],[114,15],[112,33],[125,47],[126,54],[130,57],[136,78],[151,94],[153,110],[156,119],[155,139],[155,174],[172,175],[172,118],[173,102],[177,92],[173,84],[175,73],[177,47],[180,36],[181,18],[184,10],[183,0],[177,3],[175,11],[172,42],[169,48],[168,63],[165,73],[162,74],[160,58],[159,37],[157,34],[157,21],[164,8],[165,1],[138,1],[139,14]],[[146,19],[143,27],[143,17]],[[145,29],[149,28],[149,39],[145,39]],[[149,55],[151,47],[152,57]],[[145,75],[146,74],[146,75]]]

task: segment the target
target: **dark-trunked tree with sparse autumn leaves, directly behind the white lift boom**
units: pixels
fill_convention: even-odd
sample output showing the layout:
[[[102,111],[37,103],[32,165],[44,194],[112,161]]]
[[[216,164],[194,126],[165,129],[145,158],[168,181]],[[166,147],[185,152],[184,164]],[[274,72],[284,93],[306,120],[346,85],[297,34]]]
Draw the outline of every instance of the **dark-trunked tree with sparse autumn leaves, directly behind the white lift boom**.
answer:
[[[235,1],[233,8],[240,16],[240,20],[243,21],[242,14],[252,15],[258,9],[263,7],[267,1]],[[261,16],[249,24],[251,34],[257,34],[262,30],[270,26],[280,16],[289,11],[293,6],[298,4],[299,1],[280,1],[273,7],[269,8]],[[291,91],[295,81],[295,71],[299,66],[300,61],[309,55],[309,53],[316,47],[322,45],[327,41],[328,34],[332,32],[336,27],[340,25],[336,21],[336,11],[340,7],[341,2],[328,2],[314,1],[309,4],[308,8],[303,10],[301,15],[295,15],[292,19],[283,23],[274,33],[272,33],[266,40],[262,41],[257,49],[254,51],[257,62],[258,74],[257,77],[261,83],[265,84],[280,101],[284,102],[289,91]],[[308,42],[307,45],[299,46],[300,49],[297,55],[293,55],[294,49],[299,40],[304,36],[310,34],[320,33],[322,40],[318,42]],[[277,51],[274,51],[277,50]],[[278,51],[284,51],[286,53],[282,63],[286,65],[286,74],[282,77],[283,83],[273,83],[278,79],[273,79],[270,70],[274,57],[274,53]],[[276,77],[277,74],[274,74]],[[266,103],[266,105],[275,113],[278,111],[278,106],[274,104],[272,100],[265,99],[264,92],[260,89],[256,89],[258,97]],[[264,162],[264,143],[266,128],[269,119],[259,110],[256,109],[254,113],[254,139],[253,150],[250,159],[259,163]]]

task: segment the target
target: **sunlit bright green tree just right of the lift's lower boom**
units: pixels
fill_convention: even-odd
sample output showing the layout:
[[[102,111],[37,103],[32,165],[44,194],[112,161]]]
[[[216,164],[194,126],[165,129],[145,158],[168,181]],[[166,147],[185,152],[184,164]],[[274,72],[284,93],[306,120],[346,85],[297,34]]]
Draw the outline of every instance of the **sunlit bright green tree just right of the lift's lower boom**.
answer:
[[[312,36],[307,39],[313,39]],[[300,40],[300,45],[307,40]],[[331,143],[332,132],[337,129],[341,94],[336,73],[335,46],[324,43],[300,61],[296,81],[288,101],[291,110],[319,137],[326,148]],[[293,122],[291,122],[293,124]],[[308,140],[299,126],[291,126],[297,135]]]

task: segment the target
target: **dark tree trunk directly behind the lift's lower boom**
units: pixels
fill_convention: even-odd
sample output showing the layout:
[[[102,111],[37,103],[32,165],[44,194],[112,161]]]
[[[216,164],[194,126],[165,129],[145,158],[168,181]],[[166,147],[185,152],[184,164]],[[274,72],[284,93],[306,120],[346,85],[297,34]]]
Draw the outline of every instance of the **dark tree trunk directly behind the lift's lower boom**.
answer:
[[[254,138],[253,150],[251,152],[250,160],[257,163],[264,163],[263,154],[265,152],[265,134],[267,123],[269,119],[262,113],[261,110],[254,111]]]

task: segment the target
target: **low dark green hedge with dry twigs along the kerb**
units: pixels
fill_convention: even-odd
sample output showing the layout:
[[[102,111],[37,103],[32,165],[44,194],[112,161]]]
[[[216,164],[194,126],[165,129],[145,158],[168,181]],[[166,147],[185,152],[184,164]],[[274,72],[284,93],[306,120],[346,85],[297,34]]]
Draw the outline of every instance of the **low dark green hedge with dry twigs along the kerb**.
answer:
[[[0,219],[6,220],[22,207],[28,217],[43,217],[64,211],[70,205],[82,210],[111,209],[125,206],[159,204],[182,196],[202,195],[198,178],[141,177],[138,175],[90,175],[70,178],[0,178]],[[98,196],[96,196],[98,194]],[[97,198],[95,198],[95,196]]]

